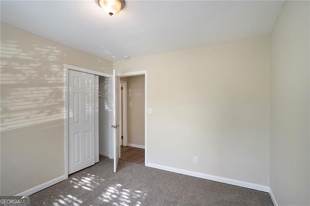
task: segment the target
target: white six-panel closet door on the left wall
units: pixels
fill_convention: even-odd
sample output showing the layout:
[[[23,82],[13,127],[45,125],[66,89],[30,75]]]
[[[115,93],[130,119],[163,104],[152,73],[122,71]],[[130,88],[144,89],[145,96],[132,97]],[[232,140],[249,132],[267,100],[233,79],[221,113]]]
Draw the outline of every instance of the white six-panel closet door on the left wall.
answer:
[[[94,164],[94,74],[69,70],[68,171]]]

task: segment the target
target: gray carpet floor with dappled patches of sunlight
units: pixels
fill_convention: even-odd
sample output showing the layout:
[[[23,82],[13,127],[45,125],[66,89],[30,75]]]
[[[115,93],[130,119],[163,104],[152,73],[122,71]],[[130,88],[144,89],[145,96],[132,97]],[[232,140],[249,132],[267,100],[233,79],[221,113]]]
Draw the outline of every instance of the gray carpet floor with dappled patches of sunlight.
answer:
[[[95,165],[31,196],[47,206],[265,206],[266,192],[189,177],[100,156]]]

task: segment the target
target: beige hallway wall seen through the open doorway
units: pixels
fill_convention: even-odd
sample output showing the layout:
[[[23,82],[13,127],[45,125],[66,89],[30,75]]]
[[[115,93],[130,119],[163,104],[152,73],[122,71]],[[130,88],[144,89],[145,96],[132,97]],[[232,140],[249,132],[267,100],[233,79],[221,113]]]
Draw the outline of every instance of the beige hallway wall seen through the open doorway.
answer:
[[[144,75],[127,77],[128,144],[144,146]]]

